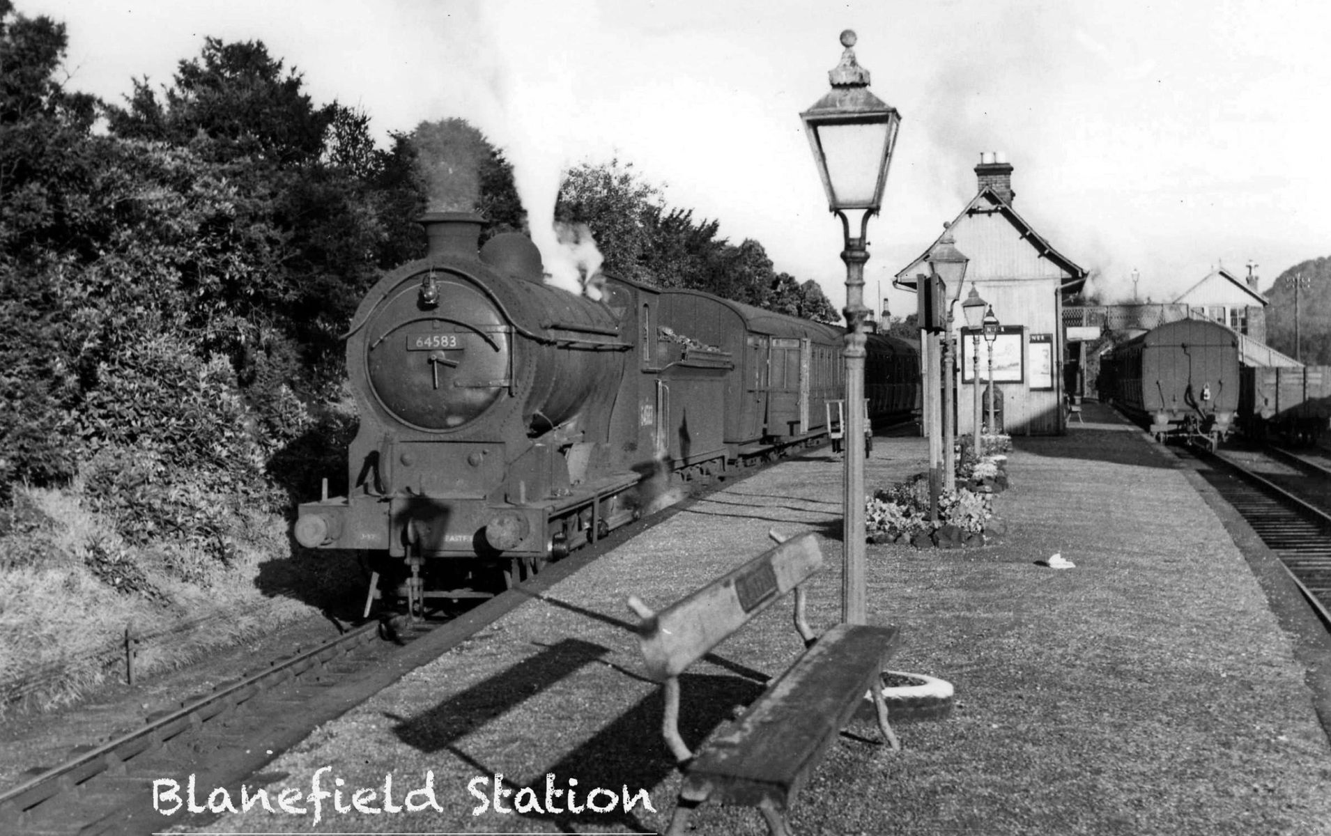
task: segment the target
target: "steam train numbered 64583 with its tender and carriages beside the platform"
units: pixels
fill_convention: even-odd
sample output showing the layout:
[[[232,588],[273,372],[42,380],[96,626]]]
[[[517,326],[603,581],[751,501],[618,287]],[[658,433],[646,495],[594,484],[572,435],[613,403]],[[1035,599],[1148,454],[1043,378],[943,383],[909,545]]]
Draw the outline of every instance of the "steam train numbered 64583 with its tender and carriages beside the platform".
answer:
[[[671,481],[827,434],[841,329],[612,277],[594,301],[546,285],[526,236],[478,252],[480,218],[422,224],[427,256],[351,321],[349,495],[301,505],[294,530],[361,550],[413,611],[518,582],[664,505]],[[918,397],[908,349],[869,339],[906,391],[886,409]]]

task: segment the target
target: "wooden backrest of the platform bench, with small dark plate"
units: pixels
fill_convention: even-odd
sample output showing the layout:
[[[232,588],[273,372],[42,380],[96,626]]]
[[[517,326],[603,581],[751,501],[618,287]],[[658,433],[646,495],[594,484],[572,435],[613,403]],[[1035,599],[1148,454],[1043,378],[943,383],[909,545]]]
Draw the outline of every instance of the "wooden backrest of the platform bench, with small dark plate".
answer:
[[[817,540],[801,534],[666,607],[640,627],[648,675],[679,676],[821,566]]]

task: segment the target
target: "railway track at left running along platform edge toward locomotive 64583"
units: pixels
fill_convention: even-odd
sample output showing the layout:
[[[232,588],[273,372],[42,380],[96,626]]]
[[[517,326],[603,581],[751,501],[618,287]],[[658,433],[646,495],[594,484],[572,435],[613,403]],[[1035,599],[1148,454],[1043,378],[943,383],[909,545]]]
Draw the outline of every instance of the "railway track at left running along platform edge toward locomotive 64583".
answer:
[[[735,475],[743,479],[768,466]],[[224,787],[233,799],[238,797],[242,781],[261,775],[270,761],[322,723],[341,716],[606,551],[733,481],[693,483],[692,497],[673,509],[612,531],[596,544],[579,548],[535,578],[451,620],[369,622],[310,650],[274,659],[212,691],[185,696],[178,707],[146,716],[137,728],[113,732],[104,743],[76,745],[64,761],[32,768],[16,785],[0,791],[0,833],[154,832],[162,819],[153,811],[152,783],[165,776],[180,779],[193,773],[198,787]],[[197,800],[206,804],[204,797]],[[176,815],[172,825],[202,825],[210,817]]]

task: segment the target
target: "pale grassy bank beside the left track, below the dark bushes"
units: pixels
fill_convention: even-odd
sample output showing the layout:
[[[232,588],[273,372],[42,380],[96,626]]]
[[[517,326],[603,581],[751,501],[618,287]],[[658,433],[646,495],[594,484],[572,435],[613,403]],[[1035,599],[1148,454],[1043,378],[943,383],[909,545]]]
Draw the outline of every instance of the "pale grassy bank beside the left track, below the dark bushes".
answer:
[[[278,515],[244,513],[230,559],[126,543],[68,490],[20,487],[0,521],[0,716],[45,711],[125,676],[125,628],[149,675],[301,618],[358,582],[345,555],[298,556]]]

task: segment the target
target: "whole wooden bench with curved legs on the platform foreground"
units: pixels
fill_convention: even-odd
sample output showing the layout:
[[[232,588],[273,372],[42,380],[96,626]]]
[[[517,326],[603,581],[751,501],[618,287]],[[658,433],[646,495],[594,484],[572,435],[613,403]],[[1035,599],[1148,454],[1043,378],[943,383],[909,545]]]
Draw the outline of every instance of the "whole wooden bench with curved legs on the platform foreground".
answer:
[[[897,647],[897,628],[837,624],[815,638],[801,584],[823,567],[823,552],[812,534],[785,542],[772,536],[776,548],[659,612],[628,599],[643,619],[638,632],[648,675],[663,683],[662,732],[684,773],[668,836],[683,836],[689,813],[704,801],[756,807],[771,833],[785,836],[785,811],[866,692],[884,740],[901,748],[880,679]],[[679,675],[792,590],[805,651],[695,755],[679,735]]]

